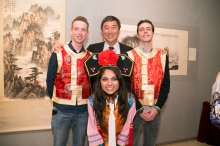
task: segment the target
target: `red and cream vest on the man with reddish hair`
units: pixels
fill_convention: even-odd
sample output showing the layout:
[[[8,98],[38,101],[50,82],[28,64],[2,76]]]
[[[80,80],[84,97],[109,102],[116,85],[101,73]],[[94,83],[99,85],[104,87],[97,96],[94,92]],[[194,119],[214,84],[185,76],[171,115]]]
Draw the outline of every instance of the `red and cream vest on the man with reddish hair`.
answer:
[[[54,82],[54,102],[76,105],[77,101],[77,105],[87,104],[91,88],[84,61],[89,56],[89,51],[76,54],[68,45],[57,53],[58,69]]]

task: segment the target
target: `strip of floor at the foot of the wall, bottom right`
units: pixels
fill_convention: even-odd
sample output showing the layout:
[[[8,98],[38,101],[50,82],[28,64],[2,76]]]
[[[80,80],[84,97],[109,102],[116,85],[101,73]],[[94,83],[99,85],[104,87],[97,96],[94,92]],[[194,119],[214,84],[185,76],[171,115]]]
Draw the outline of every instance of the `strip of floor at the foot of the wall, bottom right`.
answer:
[[[157,144],[156,146],[211,146],[211,145],[198,142],[196,139],[190,139],[190,140],[174,142],[174,143]]]

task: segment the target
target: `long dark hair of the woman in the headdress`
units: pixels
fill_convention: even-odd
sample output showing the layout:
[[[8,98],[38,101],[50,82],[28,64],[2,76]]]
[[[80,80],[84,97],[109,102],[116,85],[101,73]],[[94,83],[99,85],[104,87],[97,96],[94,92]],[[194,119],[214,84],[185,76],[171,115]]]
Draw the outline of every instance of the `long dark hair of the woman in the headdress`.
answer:
[[[105,93],[101,89],[101,83],[100,80],[103,76],[103,73],[105,70],[112,70],[116,78],[119,82],[119,88],[118,88],[118,113],[121,115],[123,118],[123,123],[124,124],[126,119],[127,119],[127,114],[128,114],[128,92],[125,88],[125,83],[124,79],[121,75],[120,70],[115,67],[115,66],[105,66],[102,67],[99,71],[99,74],[97,75],[96,82],[95,82],[95,91],[94,91],[94,102],[93,102],[93,109],[95,112],[96,120],[100,126],[100,128],[103,131],[107,131],[107,129],[104,128],[104,125],[102,124],[103,119],[103,112],[105,110],[106,106],[106,98],[105,98]],[[112,97],[114,98],[114,97]],[[106,119],[105,119],[106,120]]]

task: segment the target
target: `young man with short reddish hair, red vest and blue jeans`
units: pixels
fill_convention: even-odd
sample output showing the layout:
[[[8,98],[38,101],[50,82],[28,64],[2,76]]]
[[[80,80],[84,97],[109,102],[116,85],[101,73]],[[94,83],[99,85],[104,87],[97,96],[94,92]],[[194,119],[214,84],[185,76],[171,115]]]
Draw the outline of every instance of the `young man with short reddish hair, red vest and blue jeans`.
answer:
[[[53,101],[52,132],[54,146],[66,145],[72,128],[72,145],[83,146],[88,121],[87,102],[91,94],[84,61],[90,52],[83,47],[89,23],[76,17],[71,25],[72,40],[62,50],[51,55],[47,71],[47,91]]]

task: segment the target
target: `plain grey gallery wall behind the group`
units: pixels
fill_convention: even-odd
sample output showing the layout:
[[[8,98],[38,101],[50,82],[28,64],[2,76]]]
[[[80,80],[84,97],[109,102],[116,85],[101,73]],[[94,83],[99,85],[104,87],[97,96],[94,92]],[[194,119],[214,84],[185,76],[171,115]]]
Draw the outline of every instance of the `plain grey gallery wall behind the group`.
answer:
[[[210,99],[212,84],[220,71],[219,7],[219,0],[66,0],[65,41],[70,40],[70,25],[78,15],[85,16],[90,24],[86,47],[103,40],[100,24],[107,15],[118,17],[122,24],[136,25],[139,20],[149,19],[155,27],[188,31],[188,47],[196,48],[196,61],[187,62],[187,75],[171,76],[157,143],[194,138],[202,103]],[[50,130],[0,134],[3,146],[52,143]],[[71,134],[68,145],[71,145]]]

